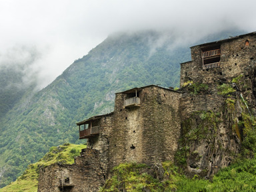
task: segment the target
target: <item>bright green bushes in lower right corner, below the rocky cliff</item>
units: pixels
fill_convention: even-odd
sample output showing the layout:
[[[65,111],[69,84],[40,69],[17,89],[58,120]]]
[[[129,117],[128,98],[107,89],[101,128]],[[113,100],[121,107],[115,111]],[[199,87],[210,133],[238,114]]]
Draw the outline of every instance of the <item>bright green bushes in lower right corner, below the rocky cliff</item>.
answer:
[[[240,159],[221,169],[212,179],[189,179],[182,176],[177,184],[177,191],[255,191],[256,190],[256,158]]]

